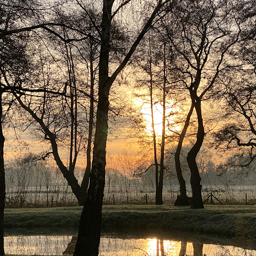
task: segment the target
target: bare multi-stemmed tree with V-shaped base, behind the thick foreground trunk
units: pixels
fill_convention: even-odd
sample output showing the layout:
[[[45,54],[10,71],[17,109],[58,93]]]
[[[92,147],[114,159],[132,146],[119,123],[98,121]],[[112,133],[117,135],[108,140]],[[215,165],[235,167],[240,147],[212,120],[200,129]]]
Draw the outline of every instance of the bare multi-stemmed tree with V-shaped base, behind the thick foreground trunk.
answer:
[[[67,179],[73,193],[77,197],[79,205],[84,204],[91,171],[91,143],[93,140],[94,102],[97,102],[97,99],[94,97],[94,83],[95,75],[97,74],[98,70],[99,55],[98,15],[95,14],[95,10],[93,11],[91,7],[88,10],[85,9],[85,6],[83,5],[81,5],[81,7],[82,12],[79,12],[78,18],[71,15],[72,22],[75,22],[74,25],[73,23],[71,24],[71,30],[68,30],[67,26],[60,26],[59,30],[55,30],[57,31],[55,34],[58,33],[59,37],[61,37],[59,45],[55,46],[55,48],[60,48],[59,51],[63,55],[63,59],[65,59],[66,62],[61,63],[61,61],[56,60],[52,54],[48,53],[49,58],[52,59],[52,65],[55,65],[57,66],[57,69],[60,69],[60,71],[55,71],[57,72],[57,75],[54,75],[53,71],[49,73],[49,71],[47,71],[47,67],[44,67],[44,61],[41,61],[42,74],[40,74],[40,76],[42,76],[41,83],[44,84],[44,87],[42,88],[42,85],[40,85],[38,81],[29,81],[31,84],[30,87],[37,86],[38,88],[42,88],[41,90],[37,91],[38,94],[35,94],[35,91],[30,94],[28,92],[27,94],[19,92],[17,93],[15,91],[13,92],[20,106],[31,115],[32,120],[34,119],[34,121],[41,126],[39,130],[43,132],[44,140],[50,141],[52,151],[47,152],[46,155],[53,154],[55,162],[57,163],[64,177]],[[62,12],[58,13],[57,22],[61,23],[67,21],[68,23],[69,20],[70,15],[66,17]],[[71,25],[69,25],[69,28]],[[118,28],[116,26],[114,26],[114,28],[114,33],[116,34],[113,39],[117,41],[123,39],[122,36],[118,34]],[[87,33],[87,38],[82,38],[83,42],[81,44],[75,44],[73,39],[69,39],[69,35],[71,34],[71,36],[74,36],[74,31],[77,31],[78,29],[79,31],[86,31]],[[113,29],[111,29],[111,31],[112,30]],[[50,37],[55,36],[55,34],[50,31]],[[39,35],[40,39],[42,39],[43,36],[44,35],[42,34]],[[70,41],[72,41],[72,43]],[[43,38],[43,43],[46,45],[51,45],[49,39],[47,41],[45,38]],[[49,50],[49,48],[50,46],[46,47],[47,50]],[[111,50],[113,50],[113,46],[111,46]],[[75,55],[78,54],[81,62],[78,62],[77,57],[75,57]],[[46,62],[46,65],[49,64]],[[88,74],[85,75],[86,73],[83,70],[84,75],[78,77],[77,67],[82,65],[87,68]],[[46,71],[44,71],[44,69],[46,69]],[[65,69],[67,69],[67,71]],[[47,74],[47,72],[49,74]],[[67,74],[66,81],[62,80],[61,82],[57,82],[59,72]],[[80,73],[82,72],[80,71]],[[47,79],[47,81],[45,81],[45,79]],[[55,83],[52,82],[54,85],[49,85],[50,81],[54,81],[54,79],[56,81]],[[83,83],[83,79],[87,79],[88,82]],[[6,79],[5,82],[9,83],[8,79]],[[90,88],[89,93],[87,93],[88,87]],[[60,93],[60,91],[62,92]],[[29,92],[32,91],[30,90]],[[62,98],[58,97],[58,95],[60,95]],[[90,100],[89,107],[85,105],[86,97]],[[40,101],[39,99],[43,100]],[[59,113],[57,113],[57,111]],[[83,111],[85,113],[83,113]],[[69,114],[67,114],[67,112],[69,112]],[[87,122],[86,119],[87,112],[89,112],[89,122]],[[30,121],[28,125],[31,126],[31,123],[33,123],[33,121]],[[88,128],[86,123],[89,123]],[[69,134],[68,129],[70,129]],[[85,136],[85,129],[88,130],[87,137]],[[66,138],[69,138],[69,142]],[[74,169],[79,151],[86,148],[84,146],[85,140],[87,140],[87,164],[82,184],[79,185],[74,174]],[[60,158],[58,149],[58,147],[61,145],[60,142],[69,146],[68,167],[63,164],[63,161]]]

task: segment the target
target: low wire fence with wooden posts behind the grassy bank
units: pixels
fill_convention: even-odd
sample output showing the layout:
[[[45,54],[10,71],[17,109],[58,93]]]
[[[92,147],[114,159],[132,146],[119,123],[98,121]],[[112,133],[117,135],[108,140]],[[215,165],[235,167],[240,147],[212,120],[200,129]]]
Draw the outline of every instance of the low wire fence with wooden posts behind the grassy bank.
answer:
[[[25,190],[8,190],[6,194],[5,207],[59,207],[78,205],[75,195],[66,183],[62,188],[45,187],[36,189],[28,187]],[[165,186],[163,189],[163,203],[174,204],[179,194],[179,188]],[[191,190],[187,195],[192,197]],[[212,197],[211,197],[212,195]],[[227,191],[223,189],[203,190],[202,197],[204,204],[256,204],[256,190],[252,186],[245,186],[241,189]],[[207,199],[208,198],[208,199]],[[207,199],[207,200],[206,200]],[[155,204],[155,188],[146,186],[109,186],[105,187],[103,204]]]

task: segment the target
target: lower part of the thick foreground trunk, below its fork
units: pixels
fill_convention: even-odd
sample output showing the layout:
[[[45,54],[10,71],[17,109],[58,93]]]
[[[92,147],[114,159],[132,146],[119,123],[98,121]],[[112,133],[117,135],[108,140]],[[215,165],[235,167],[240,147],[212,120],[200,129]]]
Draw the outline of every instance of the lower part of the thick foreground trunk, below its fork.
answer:
[[[90,186],[84,203],[74,255],[97,256],[101,232],[101,210],[105,186],[108,97],[99,92]]]

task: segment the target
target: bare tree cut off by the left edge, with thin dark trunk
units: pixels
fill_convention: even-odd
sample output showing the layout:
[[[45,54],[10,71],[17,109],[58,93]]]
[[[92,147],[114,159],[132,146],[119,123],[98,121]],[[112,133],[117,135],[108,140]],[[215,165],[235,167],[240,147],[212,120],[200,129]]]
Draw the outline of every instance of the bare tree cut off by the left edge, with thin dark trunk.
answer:
[[[21,57],[23,54],[23,46],[19,45],[22,39],[26,39],[26,31],[31,31],[33,29],[44,28],[46,30],[49,29],[50,23],[42,22],[45,21],[44,15],[46,11],[49,12],[62,3],[49,3],[47,6],[42,6],[42,3],[37,1],[22,1],[17,2],[15,0],[6,0],[0,3],[0,40],[1,40],[1,64],[0,67],[2,71],[7,67],[9,73],[16,73],[19,75],[20,67],[24,67],[27,64],[27,61],[22,61]],[[47,13],[48,14],[48,13]],[[43,19],[41,19],[43,18]],[[25,25],[25,26],[22,26]],[[51,23],[53,26],[60,26]],[[54,31],[51,30],[53,33]],[[19,34],[22,33],[23,34]],[[56,33],[55,33],[56,34]],[[63,38],[62,38],[63,39]],[[18,46],[18,50],[17,50]],[[16,54],[16,56],[14,56]],[[18,57],[18,58],[17,58]],[[21,60],[22,65],[19,62]],[[18,71],[18,73],[17,73]],[[0,93],[0,103],[2,103],[3,93],[10,90],[10,87],[6,86],[4,81],[5,75],[0,76],[1,78],[1,93]],[[18,78],[16,76],[16,78]],[[14,87],[17,86],[19,79],[14,79]],[[18,85],[19,86],[19,85]],[[9,102],[12,102],[9,101]],[[10,103],[11,105],[11,103]],[[1,143],[0,143],[0,153],[1,153],[1,175],[0,175],[0,184],[1,184],[1,192],[0,192],[0,255],[4,255],[4,247],[3,247],[3,211],[4,211],[4,200],[5,200],[5,180],[4,180],[4,163],[3,163],[3,147],[4,147],[4,136],[3,136],[3,108],[2,105],[0,107],[1,114]]]

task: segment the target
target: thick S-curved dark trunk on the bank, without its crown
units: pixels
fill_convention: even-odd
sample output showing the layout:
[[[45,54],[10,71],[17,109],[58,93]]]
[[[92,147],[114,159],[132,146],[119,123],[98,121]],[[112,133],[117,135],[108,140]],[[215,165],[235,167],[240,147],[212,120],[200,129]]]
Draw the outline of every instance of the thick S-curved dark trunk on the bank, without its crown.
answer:
[[[203,118],[202,118],[202,110],[201,110],[201,99],[197,97],[196,92],[194,90],[190,90],[190,97],[196,109],[198,128],[197,128],[197,135],[196,135],[196,143],[190,149],[187,156],[187,161],[188,161],[189,169],[191,172],[190,183],[191,183],[191,188],[193,193],[191,207],[193,209],[199,209],[199,208],[204,208],[204,205],[203,205],[203,199],[202,199],[201,178],[200,178],[198,167],[196,164],[196,156],[203,144],[205,133],[204,133]]]

